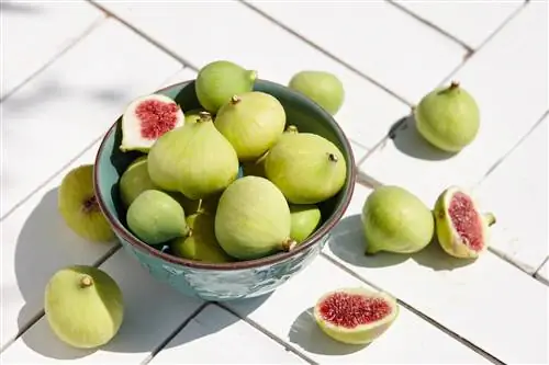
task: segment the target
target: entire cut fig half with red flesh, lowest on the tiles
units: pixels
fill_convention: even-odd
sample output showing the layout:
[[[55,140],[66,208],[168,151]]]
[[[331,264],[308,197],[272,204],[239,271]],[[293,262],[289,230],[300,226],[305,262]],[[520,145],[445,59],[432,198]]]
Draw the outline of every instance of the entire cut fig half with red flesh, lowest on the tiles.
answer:
[[[372,342],[391,327],[397,316],[395,298],[363,287],[329,292],[314,307],[314,318],[322,331],[346,344]]]

